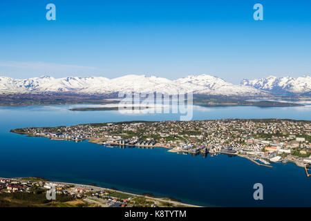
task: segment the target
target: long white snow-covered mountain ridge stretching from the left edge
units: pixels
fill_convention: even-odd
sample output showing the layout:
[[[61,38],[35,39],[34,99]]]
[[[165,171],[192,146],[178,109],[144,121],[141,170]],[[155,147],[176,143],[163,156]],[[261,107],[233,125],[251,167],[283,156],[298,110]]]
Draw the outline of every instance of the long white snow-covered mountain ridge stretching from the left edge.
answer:
[[[196,94],[207,95],[263,95],[261,90],[249,86],[234,85],[210,75],[188,76],[174,81],[163,77],[125,75],[114,79],[106,77],[34,77],[12,79],[0,77],[0,93],[84,93],[109,94],[118,92],[169,93],[193,90]]]

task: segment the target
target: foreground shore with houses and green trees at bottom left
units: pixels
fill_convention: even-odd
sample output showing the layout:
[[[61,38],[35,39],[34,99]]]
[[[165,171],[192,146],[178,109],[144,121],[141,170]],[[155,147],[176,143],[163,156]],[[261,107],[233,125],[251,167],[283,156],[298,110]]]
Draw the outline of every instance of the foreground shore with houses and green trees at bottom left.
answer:
[[[55,199],[48,200],[55,189]],[[48,193],[49,192],[49,193]],[[1,207],[164,207],[194,206],[169,198],[137,195],[93,185],[51,182],[37,177],[0,177]]]

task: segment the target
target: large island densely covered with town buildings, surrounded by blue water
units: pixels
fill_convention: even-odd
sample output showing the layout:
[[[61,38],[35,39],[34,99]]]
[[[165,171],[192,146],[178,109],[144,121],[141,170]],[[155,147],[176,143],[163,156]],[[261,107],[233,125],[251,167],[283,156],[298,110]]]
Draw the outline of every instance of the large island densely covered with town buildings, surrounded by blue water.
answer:
[[[229,154],[259,166],[293,162],[310,176],[311,122],[293,119],[215,119],[111,122],[43,128],[13,133],[51,140],[87,140],[106,147],[168,148],[191,155]]]

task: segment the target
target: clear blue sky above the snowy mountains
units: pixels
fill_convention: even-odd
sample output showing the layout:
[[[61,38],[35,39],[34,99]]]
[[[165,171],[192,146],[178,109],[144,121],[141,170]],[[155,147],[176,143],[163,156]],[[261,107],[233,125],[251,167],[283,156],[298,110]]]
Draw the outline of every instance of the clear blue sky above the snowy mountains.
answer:
[[[48,3],[56,21],[46,20]],[[3,0],[0,76],[310,75],[310,11],[308,0]]]

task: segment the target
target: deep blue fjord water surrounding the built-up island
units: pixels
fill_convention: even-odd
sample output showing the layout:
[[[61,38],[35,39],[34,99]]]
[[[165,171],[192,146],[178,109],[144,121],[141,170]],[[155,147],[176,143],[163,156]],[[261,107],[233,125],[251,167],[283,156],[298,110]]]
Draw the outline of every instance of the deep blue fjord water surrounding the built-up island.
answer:
[[[164,148],[106,148],[87,142],[53,141],[10,133],[12,128],[95,122],[179,119],[173,114],[68,111],[70,106],[0,108],[0,177],[45,177],[97,184],[131,193],[153,193],[202,206],[311,206],[311,179],[292,163],[257,166],[241,157],[169,153]],[[194,119],[311,119],[311,106],[194,107]],[[263,184],[263,200],[253,185]]]

